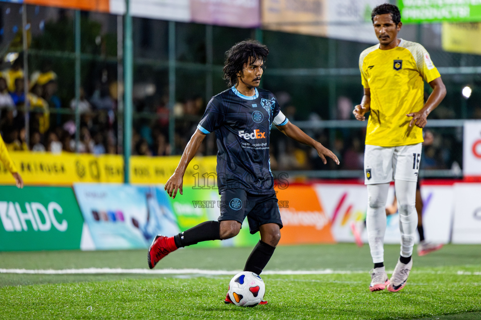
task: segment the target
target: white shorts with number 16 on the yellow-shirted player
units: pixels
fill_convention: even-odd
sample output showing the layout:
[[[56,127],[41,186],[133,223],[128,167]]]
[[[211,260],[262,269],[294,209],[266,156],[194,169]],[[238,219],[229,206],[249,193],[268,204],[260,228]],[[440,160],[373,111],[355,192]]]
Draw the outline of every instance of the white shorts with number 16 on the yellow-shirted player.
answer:
[[[418,181],[421,149],[421,143],[399,147],[366,144],[364,184],[388,183],[393,179]]]

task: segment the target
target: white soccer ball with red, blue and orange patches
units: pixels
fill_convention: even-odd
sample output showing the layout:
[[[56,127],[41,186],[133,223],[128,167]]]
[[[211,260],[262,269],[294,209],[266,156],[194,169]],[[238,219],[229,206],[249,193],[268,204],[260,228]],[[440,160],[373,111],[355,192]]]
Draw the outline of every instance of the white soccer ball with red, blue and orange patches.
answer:
[[[229,296],[236,306],[257,306],[266,293],[262,278],[253,272],[244,271],[236,274],[229,283]]]

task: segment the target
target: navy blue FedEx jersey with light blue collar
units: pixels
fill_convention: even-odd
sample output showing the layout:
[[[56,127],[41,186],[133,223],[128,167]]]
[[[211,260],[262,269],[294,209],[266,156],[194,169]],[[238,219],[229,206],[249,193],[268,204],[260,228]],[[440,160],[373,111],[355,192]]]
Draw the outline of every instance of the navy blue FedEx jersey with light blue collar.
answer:
[[[215,132],[219,194],[235,188],[275,193],[269,135],[273,123],[283,126],[288,121],[267,90],[255,89],[255,95],[246,96],[232,87],[212,97],[197,129]]]

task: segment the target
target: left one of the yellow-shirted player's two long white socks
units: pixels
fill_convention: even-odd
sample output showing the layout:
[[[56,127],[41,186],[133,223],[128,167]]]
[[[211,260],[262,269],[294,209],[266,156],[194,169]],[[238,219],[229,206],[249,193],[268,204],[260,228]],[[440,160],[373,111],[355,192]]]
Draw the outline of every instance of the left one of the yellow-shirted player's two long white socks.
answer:
[[[384,262],[384,233],[386,232],[386,201],[389,183],[367,185],[366,229],[372,262]]]

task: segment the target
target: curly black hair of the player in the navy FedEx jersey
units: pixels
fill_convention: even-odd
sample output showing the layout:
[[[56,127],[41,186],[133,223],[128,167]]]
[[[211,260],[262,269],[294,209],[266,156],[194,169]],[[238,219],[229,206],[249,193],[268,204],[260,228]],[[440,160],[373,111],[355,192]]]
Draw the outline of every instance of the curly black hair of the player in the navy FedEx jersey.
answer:
[[[237,85],[237,73],[243,71],[244,63],[251,64],[258,59],[266,61],[269,49],[256,40],[244,40],[236,43],[226,51],[226,62],[224,63],[224,77],[228,86]]]

